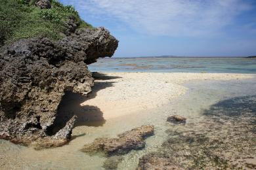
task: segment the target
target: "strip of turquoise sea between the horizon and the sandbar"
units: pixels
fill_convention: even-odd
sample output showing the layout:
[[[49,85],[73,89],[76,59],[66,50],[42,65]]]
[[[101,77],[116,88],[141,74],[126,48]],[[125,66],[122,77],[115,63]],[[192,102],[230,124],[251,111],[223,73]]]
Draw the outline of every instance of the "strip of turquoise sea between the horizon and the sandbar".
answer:
[[[102,72],[256,73],[249,58],[103,58],[89,65]]]

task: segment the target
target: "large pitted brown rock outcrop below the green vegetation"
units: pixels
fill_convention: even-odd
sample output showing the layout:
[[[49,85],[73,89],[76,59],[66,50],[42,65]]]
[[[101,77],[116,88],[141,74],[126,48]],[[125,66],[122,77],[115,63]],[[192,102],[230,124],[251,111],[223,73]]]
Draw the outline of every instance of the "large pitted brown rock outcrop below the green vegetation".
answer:
[[[0,138],[23,144],[39,141],[45,147],[66,143],[76,118],[56,120],[64,93],[91,92],[87,64],[112,56],[117,44],[99,27],[75,30],[58,42],[22,39],[5,46],[0,54]]]

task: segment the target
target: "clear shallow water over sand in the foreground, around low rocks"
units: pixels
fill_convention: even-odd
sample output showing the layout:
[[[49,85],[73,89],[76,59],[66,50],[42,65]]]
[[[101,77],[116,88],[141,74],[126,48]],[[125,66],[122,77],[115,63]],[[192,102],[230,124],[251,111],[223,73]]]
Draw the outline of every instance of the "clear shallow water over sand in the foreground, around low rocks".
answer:
[[[188,128],[194,127],[198,127],[196,129],[200,131],[200,128],[203,127],[198,126],[199,123],[207,120],[205,119],[205,117],[207,118],[205,110],[211,110],[211,107],[216,103],[226,99],[234,99],[234,97],[249,96],[251,100],[247,100],[249,103],[247,102],[247,105],[245,105],[245,110],[256,105],[255,99],[250,97],[256,95],[256,78],[230,81],[195,81],[189,82],[185,86],[189,88],[186,95],[175,101],[170,101],[167,105],[106,122],[98,122],[98,124],[77,126],[72,133],[74,139],[69,144],[59,148],[37,151],[33,148],[0,140],[1,169],[102,169],[102,164],[106,158],[89,156],[80,152],[79,149],[84,144],[91,143],[96,137],[116,137],[118,133],[130,130],[133,127],[153,124],[156,128],[155,135],[146,139],[146,148],[139,151],[133,150],[123,156],[123,161],[119,163],[118,167],[118,169],[135,169],[139,158],[144,154],[153,151],[161,152],[162,143],[173,138],[170,131],[187,131]],[[224,105],[224,110],[238,110],[241,107],[241,103],[238,102],[241,99],[229,101],[221,103]],[[245,110],[240,109],[240,114],[243,114]],[[215,109],[216,112],[222,114],[223,109]],[[252,112],[251,120],[255,120],[255,110],[252,110]],[[188,118],[186,126],[173,126],[167,123],[167,116],[172,114],[179,114]],[[253,137],[256,138],[255,133]],[[247,140],[251,140],[251,138]],[[256,156],[255,152],[255,148],[251,148],[253,156]]]

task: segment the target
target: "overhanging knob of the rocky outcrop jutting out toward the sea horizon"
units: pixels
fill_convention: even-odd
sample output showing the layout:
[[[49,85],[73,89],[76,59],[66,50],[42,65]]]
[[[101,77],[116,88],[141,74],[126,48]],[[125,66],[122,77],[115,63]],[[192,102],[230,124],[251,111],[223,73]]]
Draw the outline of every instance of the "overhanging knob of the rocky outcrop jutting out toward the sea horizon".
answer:
[[[59,42],[68,58],[87,64],[96,62],[98,58],[112,56],[117,45],[118,41],[104,27],[79,29]]]

